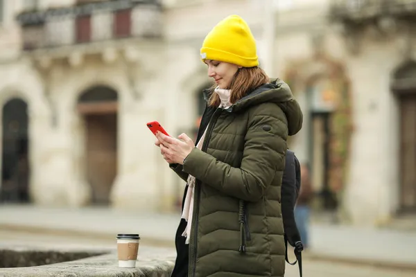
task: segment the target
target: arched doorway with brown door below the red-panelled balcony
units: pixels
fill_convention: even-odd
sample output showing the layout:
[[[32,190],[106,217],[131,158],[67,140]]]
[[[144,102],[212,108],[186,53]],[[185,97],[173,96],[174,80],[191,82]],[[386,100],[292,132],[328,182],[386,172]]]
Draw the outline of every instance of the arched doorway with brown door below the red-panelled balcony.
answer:
[[[85,126],[85,178],[92,204],[109,204],[117,175],[118,96],[109,87],[93,87],[78,98]]]

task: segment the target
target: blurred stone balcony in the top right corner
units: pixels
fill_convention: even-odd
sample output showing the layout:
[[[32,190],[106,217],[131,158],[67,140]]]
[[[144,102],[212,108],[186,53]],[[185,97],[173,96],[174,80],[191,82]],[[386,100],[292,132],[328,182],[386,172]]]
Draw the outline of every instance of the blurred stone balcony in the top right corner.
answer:
[[[366,21],[389,16],[414,19],[416,0],[334,0],[331,18],[344,21]]]

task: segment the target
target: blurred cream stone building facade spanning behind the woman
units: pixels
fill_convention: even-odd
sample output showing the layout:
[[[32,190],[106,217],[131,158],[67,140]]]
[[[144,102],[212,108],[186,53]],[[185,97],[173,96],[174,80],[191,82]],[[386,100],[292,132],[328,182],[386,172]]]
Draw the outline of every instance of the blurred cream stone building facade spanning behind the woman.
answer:
[[[0,3],[3,195],[21,184],[36,204],[175,207],[184,184],[146,122],[195,134],[211,85],[199,48],[238,14],[302,105],[290,145],[316,208],[368,225],[416,210],[415,1]]]

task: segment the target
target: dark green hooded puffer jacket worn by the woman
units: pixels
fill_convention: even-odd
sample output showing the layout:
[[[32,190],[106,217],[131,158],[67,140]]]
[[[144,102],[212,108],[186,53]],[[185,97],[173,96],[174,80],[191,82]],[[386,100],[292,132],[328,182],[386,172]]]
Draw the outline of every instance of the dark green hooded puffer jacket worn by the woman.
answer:
[[[197,179],[189,276],[284,276],[280,188],[286,139],[302,127],[297,101],[274,80],[228,109],[208,107],[204,121],[202,150],[174,168]]]

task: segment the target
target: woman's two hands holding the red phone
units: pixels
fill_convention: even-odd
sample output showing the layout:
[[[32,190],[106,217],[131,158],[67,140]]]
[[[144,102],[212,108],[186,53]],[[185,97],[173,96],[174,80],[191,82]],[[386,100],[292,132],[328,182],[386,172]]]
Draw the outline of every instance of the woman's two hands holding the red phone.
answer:
[[[159,144],[160,152],[168,163],[183,164],[184,159],[195,148],[195,143],[193,143],[187,134],[181,134],[178,136],[179,139],[175,139],[161,132],[157,132],[156,138],[159,143],[156,142],[155,145]]]

